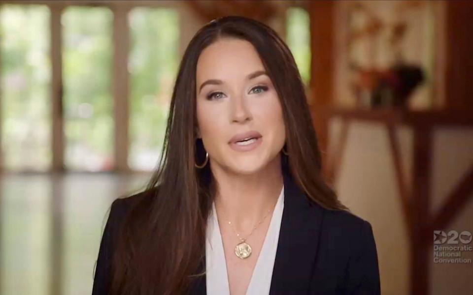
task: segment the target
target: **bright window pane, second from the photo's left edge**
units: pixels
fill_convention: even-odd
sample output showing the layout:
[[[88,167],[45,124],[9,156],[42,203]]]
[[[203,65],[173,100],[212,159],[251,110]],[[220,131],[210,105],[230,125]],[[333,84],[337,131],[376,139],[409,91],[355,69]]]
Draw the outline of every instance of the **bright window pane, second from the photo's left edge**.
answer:
[[[68,7],[61,18],[65,164],[70,170],[114,166],[112,22],[105,7]]]

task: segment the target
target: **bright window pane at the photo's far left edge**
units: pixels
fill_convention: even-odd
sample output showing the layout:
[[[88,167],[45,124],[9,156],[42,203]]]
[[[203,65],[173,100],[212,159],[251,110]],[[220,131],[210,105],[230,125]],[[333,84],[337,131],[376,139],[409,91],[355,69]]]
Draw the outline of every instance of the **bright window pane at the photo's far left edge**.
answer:
[[[50,12],[45,5],[0,9],[2,165],[46,171],[52,160]]]

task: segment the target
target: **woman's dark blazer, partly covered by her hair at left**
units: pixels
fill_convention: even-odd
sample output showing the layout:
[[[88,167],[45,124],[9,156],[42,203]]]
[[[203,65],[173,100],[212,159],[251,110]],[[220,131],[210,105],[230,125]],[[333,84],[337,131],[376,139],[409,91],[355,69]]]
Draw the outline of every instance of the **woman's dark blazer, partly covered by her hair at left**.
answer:
[[[284,170],[283,178],[284,210],[270,295],[380,294],[371,224],[352,213],[328,210],[311,202]],[[136,201],[135,196],[117,199],[112,204],[101,239],[93,295],[108,293],[114,247],[111,235]],[[204,267],[205,258],[201,270]],[[203,276],[192,286],[190,294],[206,294],[205,283]]]

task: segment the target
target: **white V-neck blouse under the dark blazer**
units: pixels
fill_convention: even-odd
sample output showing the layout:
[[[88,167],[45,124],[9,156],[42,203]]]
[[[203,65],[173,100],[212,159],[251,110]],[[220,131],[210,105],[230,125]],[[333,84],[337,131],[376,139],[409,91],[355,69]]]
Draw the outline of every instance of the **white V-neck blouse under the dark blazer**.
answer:
[[[272,213],[268,233],[256,262],[246,295],[264,295],[270,293],[272,269],[276,257],[279,229],[281,227],[282,211],[284,208],[284,186]],[[228,285],[227,264],[223,250],[222,236],[215,210],[207,220],[207,238],[205,241],[206,287],[207,295],[230,295]]]

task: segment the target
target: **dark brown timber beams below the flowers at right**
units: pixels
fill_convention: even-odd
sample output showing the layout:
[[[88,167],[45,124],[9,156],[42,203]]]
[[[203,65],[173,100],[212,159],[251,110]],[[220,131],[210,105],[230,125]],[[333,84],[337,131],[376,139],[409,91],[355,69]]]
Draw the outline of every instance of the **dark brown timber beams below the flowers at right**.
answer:
[[[314,115],[315,116],[315,115]],[[460,179],[446,202],[436,214],[429,212],[431,182],[432,139],[438,126],[473,126],[473,117],[468,110],[405,112],[401,110],[340,110],[325,109],[317,112],[327,120],[333,117],[342,119],[342,131],[334,152],[328,158],[326,174],[336,182],[340,162],[346,148],[347,133],[351,121],[362,120],[381,123],[389,137],[391,156],[394,159],[396,182],[399,189],[404,221],[410,242],[410,294],[429,294],[429,258],[432,247],[432,233],[448,227],[461,209],[472,201],[473,164]],[[413,158],[411,189],[405,182],[403,160],[400,152],[396,126],[408,125],[413,129]]]

